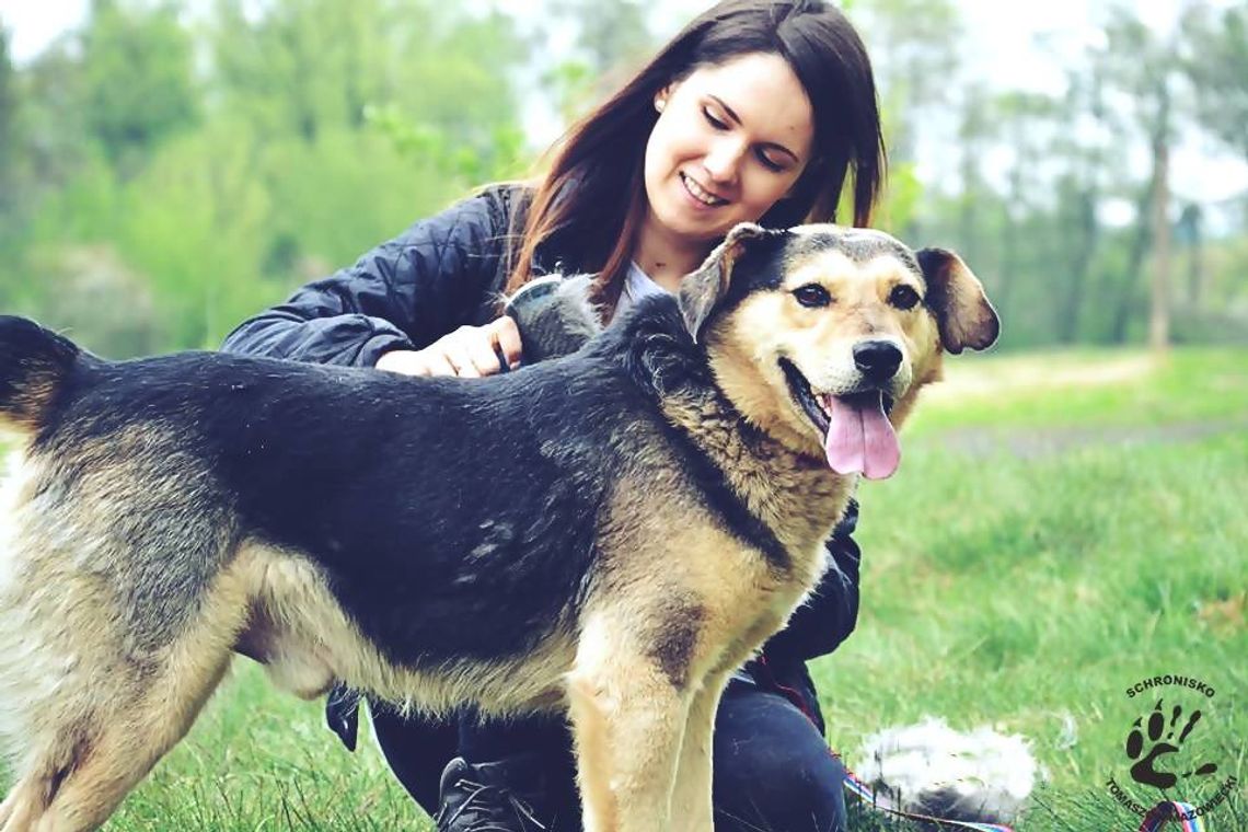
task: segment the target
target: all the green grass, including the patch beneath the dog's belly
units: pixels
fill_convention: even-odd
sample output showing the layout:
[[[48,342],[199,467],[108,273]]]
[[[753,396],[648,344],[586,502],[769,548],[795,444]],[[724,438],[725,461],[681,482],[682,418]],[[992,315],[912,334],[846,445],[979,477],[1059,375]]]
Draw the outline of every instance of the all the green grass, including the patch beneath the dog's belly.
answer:
[[[834,747],[852,767],[884,726],[992,723],[1048,771],[1020,830],[1133,832],[1106,781],[1131,783],[1126,736],[1164,697],[1204,712],[1177,757],[1218,763],[1171,796],[1233,775],[1208,828],[1248,830],[1248,353],[965,358],[930,399],[899,475],[860,494],[861,619],[814,664]],[[1163,674],[1216,695],[1126,696]],[[372,745],[348,753],[321,718],[238,660],[109,828],[428,828]]]

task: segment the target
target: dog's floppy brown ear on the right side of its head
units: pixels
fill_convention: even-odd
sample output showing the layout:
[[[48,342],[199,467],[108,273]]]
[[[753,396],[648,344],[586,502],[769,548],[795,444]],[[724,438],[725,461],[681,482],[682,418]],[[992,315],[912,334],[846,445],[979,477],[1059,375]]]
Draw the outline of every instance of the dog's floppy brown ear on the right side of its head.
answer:
[[[967,347],[991,347],[1001,334],[1001,319],[988,303],[980,278],[961,257],[945,248],[922,248],[915,257],[927,281],[927,306],[936,313],[945,349],[956,356]]]

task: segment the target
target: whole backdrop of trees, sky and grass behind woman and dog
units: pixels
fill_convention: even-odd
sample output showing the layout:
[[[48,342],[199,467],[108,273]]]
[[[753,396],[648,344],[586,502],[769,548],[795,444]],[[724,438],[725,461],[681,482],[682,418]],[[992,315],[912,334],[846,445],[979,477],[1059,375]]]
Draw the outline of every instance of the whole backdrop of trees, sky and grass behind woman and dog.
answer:
[[[846,2],[891,147],[877,225],[958,249],[1005,321],[861,489],[857,632],[812,664],[829,741],[924,716],[1031,742],[1022,830],[1136,828],[1123,741],[1204,720],[1166,797],[1248,830],[1248,0]],[[0,311],[105,356],[241,319],[483,183],[691,0],[0,0]],[[116,830],[427,818],[238,662]],[[2,775],[0,775],[2,783]],[[1134,825],[1132,825],[1134,822]],[[854,830],[904,828],[856,815]],[[790,832],[790,831],[786,831]]]

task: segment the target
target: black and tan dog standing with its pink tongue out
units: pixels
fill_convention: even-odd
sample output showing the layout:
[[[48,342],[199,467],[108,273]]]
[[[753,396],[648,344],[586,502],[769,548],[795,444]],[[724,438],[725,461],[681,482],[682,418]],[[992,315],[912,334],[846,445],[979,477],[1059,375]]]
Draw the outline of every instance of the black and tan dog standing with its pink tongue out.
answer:
[[[301,696],[568,710],[587,830],[710,830],[726,675],[942,349],[996,334],[956,256],[831,226],[741,226],[679,298],[487,379],[0,319],[0,826],[102,823],[243,652]]]

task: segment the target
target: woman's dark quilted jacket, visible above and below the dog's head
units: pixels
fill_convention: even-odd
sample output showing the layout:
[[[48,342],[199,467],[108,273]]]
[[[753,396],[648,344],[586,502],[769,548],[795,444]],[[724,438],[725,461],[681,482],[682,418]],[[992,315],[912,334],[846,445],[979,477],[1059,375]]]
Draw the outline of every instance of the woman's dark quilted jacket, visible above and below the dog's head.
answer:
[[[525,192],[494,186],[442,213],[418,221],[286,303],[243,322],[223,349],[324,364],[372,367],[391,349],[421,349],[463,324],[498,316],[509,273],[508,241],[518,238]],[[535,273],[582,268],[575,228],[538,252]],[[827,541],[836,568],[764,649],[751,672],[805,682],[802,662],[831,652],[854,630],[859,606],[859,549],[851,539],[857,505]],[[812,695],[812,691],[810,691]]]

